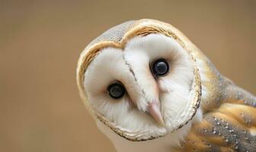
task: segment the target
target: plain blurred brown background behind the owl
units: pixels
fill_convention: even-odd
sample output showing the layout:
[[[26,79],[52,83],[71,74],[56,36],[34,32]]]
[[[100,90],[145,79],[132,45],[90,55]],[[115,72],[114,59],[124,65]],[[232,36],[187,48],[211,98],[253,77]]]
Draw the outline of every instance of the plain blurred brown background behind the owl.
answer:
[[[178,27],[236,84],[256,93],[256,1],[0,0],[0,151],[114,151],[78,96],[82,49],[124,21]]]

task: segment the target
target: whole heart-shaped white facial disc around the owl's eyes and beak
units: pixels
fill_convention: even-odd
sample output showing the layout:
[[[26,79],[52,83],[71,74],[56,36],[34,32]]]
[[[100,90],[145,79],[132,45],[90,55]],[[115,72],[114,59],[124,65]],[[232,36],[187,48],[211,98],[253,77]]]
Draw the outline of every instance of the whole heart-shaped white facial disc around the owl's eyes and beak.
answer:
[[[150,64],[155,59],[168,61],[168,74],[154,78]],[[107,87],[114,81],[120,81],[126,88],[125,96],[119,100],[107,93]],[[178,131],[168,132],[187,119],[193,83],[194,69],[189,55],[174,39],[162,34],[137,36],[126,43],[123,50],[101,50],[85,71],[84,81],[93,109],[117,127],[146,132],[142,138],[168,134],[175,136],[173,143],[177,144],[187,135],[191,122]],[[149,103],[155,101],[161,104],[165,127],[146,112]],[[200,109],[194,119],[202,119]]]

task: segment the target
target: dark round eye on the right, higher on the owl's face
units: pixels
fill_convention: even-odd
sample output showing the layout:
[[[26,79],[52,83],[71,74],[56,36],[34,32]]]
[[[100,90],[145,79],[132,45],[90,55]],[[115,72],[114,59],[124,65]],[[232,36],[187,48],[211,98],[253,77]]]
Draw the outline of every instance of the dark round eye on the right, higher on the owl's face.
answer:
[[[151,71],[157,77],[167,74],[169,71],[168,62],[165,59],[155,60],[155,62],[152,63]]]

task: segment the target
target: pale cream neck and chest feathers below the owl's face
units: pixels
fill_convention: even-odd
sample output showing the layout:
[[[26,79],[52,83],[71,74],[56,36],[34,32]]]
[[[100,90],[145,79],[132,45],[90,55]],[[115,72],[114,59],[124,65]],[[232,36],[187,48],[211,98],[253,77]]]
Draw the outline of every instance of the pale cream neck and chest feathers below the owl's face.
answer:
[[[193,120],[191,122],[188,122],[187,125],[184,125],[182,128],[178,129],[177,131],[168,133],[168,135],[165,135],[163,138],[158,138],[152,141],[146,141],[146,142],[133,142],[133,141],[127,141],[124,138],[121,138],[118,136],[114,131],[112,131],[110,128],[108,128],[104,123],[97,120],[98,128],[107,135],[107,138],[110,139],[110,141],[113,142],[114,147],[117,151],[122,152],[155,152],[155,151],[161,151],[161,152],[170,152],[172,151],[172,148],[175,147],[181,147],[181,141],[184,141],[184,137],[188,134],[190,131],[192,122],[199,122],[202,119],[202,111],[201,109],[197,110],[196,115],[194,116]],[[168,145],[168,146],[167,146]]]

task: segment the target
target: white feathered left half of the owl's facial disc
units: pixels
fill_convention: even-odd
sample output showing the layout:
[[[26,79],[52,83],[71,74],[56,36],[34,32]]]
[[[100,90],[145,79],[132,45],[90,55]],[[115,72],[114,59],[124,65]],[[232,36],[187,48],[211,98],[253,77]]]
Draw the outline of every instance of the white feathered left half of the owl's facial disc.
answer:
[[[155,125],[150,116],[136,109],[131,102],[136,100],[146,103],[122,54],[119,49],[104,49],[85,72],[88,100],[93,101],[91,106],[121,128],[128,128],[130,131],[149,131],[152,135],[165,134],[165,128]],[[120,100],[114,100],[109,96],[107,87],[117,80],[123,83],[130,96],[126,94]]]

